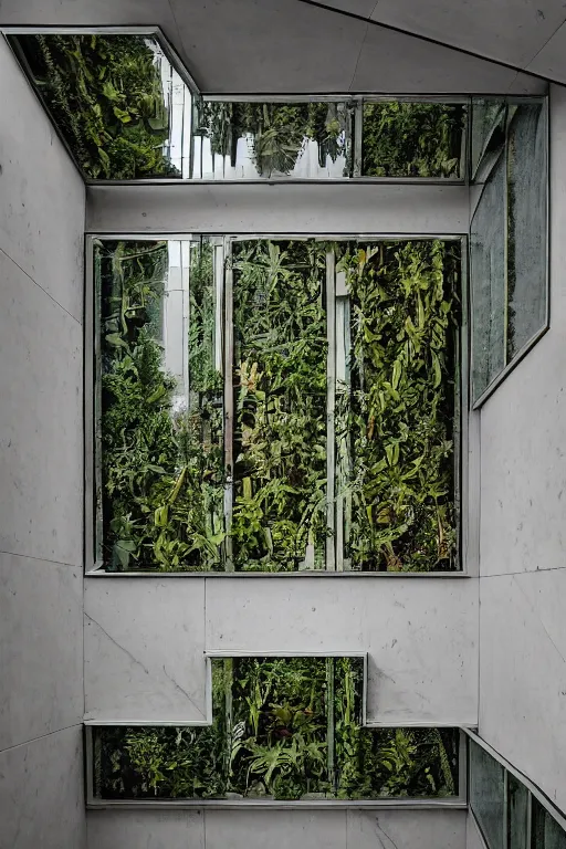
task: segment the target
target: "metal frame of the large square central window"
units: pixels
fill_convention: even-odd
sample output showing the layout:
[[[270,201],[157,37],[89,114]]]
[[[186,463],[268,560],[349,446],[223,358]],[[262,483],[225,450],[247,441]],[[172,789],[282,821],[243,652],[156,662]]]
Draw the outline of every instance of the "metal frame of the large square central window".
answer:
[[[102,447],[101,447],[101,429],[99,421],[102,417],[101,398],[96,392],[99,392],[101,375],[99,375],[99,324],[98,324],[98,304],[96,302],[96,293],[94,291],[94,244],[97,241],[200,241],[203,238],[210,239],[223,239],[224,244],[224,263],[226,263],[226,284],[231,283],[231,268],[229,262],[230,244],[237,241],[253,241],[264,239],[297,239],[297,240],[314,240],[318,242],[327,241],[434,241],[441,240],[446,242],[459,242],[461,245],[461,326],[457,336],[458,352],[461,360],[459,386],[457,387],[457,405],[454,410],[454,504],[457,515],[457,563],[459,568],[447,572],[361,572],[361,570],[343,570],[336,568],[312,569],[312,570],[298,570],[298,572],[234,572],[233,568],[228,568],[231,565],[231,552],[229,546],[226,551],[227,568],[219,572],[106,572],[104,570],[103,560],[99,557],[102,546],[102,524],[101,524],[101,511],[102,511]],[[469,333],[468,333],[468,315],[469,315],[469,285],[468,285],[468,263],[467,256],[467,243],[468,238],[465,235],[447,235],[447,234],[402,234],[395,233],[377,233],[377,234],[348,234],[345,235],[336,233],[327,234],[281,234],[281,233],[245,233],[219,237],[216,233],[106,233],[106,234],[87,234],[85,238],[85,281],[84,281],[84,326],[85,326],[85,346],[84,346],[84,432],[85,432],[85,502],[84,502],[84,562],[85,562],[85,575],[87,577],[116,577],[116,578],[335,578],[335,577],[371,577],[371,578],[468,578],[473,570],[468,568],[468,541],[474,536],[474,528],[469,528],[468,517],[470,515],[471,499],[468,492],[469,481],[469,460],[467,451],[468,434],[470,432],[470,417],[469,410],[469,385],[471,379],[471,373],[469,371]],[[327,268],[327,297],[328,291],[334,292],[334,287],[328,286],[328,277],[332,277]],[[228,400],[224,397],[224,459],[227,463],[232,460],[231,440],[227,437],[230,433],[230,428],[233,428],[233,406],[230,401],[231,394],[231,363],[232,363],[232,349],[233,349],[233,327],[231,319],[231,297],[227,296],[224,291],[224,396],[226,391],[229,391]],[[93,361],[94,360],[94,361]],[[329,389],[328,389],[329,392]],[[327,420],[328,421],[328,420]],[[328,452],[331,453],[331,452]],[[224,492],[224,515],[228,517],[231,513],[232,506],[232,481],[227,481],[227,488]],[[328,499],[332,510],[334,505],[331,499]],[[331,506],[328,507],[328,512]],[[333,545],[335,541],[333,539]],[[334,551],[334,548],[333,548]]]

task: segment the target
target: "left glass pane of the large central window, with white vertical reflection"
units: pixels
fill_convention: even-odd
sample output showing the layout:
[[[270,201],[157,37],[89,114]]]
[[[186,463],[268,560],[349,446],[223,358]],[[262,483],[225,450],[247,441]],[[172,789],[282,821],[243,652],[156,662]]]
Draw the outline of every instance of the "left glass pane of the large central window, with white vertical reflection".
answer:
[[[95,245],[99,556],[108,570],[222,567],[223,281],[214,250],[209,241]]]

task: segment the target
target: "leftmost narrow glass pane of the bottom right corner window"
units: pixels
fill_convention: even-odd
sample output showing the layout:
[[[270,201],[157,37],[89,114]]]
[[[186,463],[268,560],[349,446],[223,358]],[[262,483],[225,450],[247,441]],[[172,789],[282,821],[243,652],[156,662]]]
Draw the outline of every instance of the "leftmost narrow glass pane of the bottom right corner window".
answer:
[[[470,741],[470,805],[489,849],[506,849],[504,768]]]

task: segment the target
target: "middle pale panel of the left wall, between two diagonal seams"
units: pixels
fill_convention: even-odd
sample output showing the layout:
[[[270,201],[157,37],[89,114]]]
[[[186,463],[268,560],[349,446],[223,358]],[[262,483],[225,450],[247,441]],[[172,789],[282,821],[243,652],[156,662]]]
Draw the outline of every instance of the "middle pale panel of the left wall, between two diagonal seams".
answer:
[[[0,551],[78,565],[82,327],[2,252],[0,280]]]

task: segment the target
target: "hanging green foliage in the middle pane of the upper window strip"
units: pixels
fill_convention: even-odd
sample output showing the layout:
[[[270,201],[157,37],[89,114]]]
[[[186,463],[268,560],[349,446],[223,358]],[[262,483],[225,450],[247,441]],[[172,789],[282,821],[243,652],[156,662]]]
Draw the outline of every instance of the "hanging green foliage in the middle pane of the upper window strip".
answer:
[[[238,139],[252,137],[259,174],[291,174],[305,143],[318,144],[322,168],[346,154],[346,107],[337,103],[219,103],[205,101],[196,135],[210,138],[213,154],[230,156],[237,165]],[[347,175],[345,175],[347,176]]]

